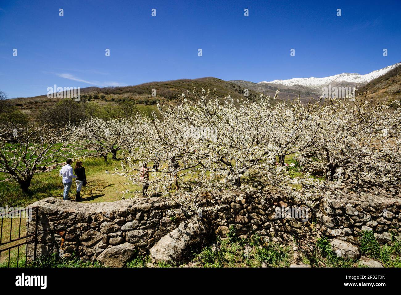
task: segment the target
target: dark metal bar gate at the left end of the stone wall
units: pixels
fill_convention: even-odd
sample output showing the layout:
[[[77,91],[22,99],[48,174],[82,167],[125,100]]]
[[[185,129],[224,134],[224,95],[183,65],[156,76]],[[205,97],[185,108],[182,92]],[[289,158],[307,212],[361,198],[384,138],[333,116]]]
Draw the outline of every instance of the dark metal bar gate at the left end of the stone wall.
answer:
[[[24,212],[24,214],[22,214],[22,212]],[[34,218],[32,216],[33,212],[34,212]],[[10,267],[10,261],[13,262],[12,267],[26,267],[28,262],[27,261],[28,245],[30,244],[33,244],[34,246],[32,261],[36,260],[36,245],[37,245],[38,216],[39,216],[38,213],[39,213],[39,207],[28,207],[28,208],[18,208],[17,210],[14,210],[12,212],[4,212],[4,214],[0,215],[1,219],[0,267]],[[28,214],[28,216],[30,216],[31,218],[22,218],[22,216],[23,215],[26,216],[26,214]],[[22,222],[23,222],[22,224],[23,230],[21,231]],[[32,227],[32,222],[35,223],[34,231],[29,230],[30,223]],[[18,228],[16,228],[16,226]],[[15,248],[17,248],[16,251],[14,250]],[[22,251],[20,251],[20,249]],[[25,253],[23,253],[23,251]],[[20,254],[22,254],[22,258],[25,258],[24,263],[20,262]],[[4,259],[4,255],[7,255],[8,258],[6,256],[6,258]],[[16,256],[16,262],[15,262],[15,256]],[[3,257],[3,262],[2,262],[2,257]]]

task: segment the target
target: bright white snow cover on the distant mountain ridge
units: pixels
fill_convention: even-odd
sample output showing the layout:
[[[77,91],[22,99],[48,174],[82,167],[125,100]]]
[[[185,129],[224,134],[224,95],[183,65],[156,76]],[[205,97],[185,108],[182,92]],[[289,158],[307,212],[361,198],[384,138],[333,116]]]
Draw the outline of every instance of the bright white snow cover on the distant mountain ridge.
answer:
[[[274,80],[274,81],[262,81],[259,82],[258,84],[281,84],[285,85],[288,87],[296,86],[296,85],[302,85],[305,87],[310,88],[312,91],[318,93],[322,90],[323,87],[327,87],[329,84],[331,85],[348,85],[348,86],[354,86],[356,84],[361,85],[368,83],[369,81],[380,77],[381,75],[384,75],[391,69],[395,68],[397,65],[400,63],[396,63],[395,65],[389,65],[388,67],[385,67],[383,69],[379,69],[376,71],[373,71],[369,74],[366,75],[360,75],[357,73],[342,73],[334,76],[329,76],[329,77],[323,77],[323,78],[315,78],[315,77],[310,77],[310,78],[293,78],[293,79],[287,79],[287,80]]]

